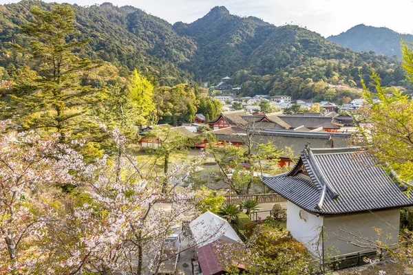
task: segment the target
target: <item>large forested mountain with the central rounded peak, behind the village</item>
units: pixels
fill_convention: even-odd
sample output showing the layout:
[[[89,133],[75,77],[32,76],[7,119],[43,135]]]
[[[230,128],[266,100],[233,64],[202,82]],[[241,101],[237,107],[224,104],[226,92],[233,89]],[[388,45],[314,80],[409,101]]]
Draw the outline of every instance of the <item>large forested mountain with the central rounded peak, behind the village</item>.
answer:
[[[0,67],[25,61],[13,54],[9,41],[27,43],[18,26],[31,19],[30,6],[50,9],[52,3],[21,1],[0,5]],[[294,98],[339,101],[354,98],[350,87],[359,87],[359,74],[369,80],[369,67],[379,72],[383,85],[407,87],[400,62],[372,52],[356,53],[295,25],[275,26],[255,17],[237,17],[215,7],[193,23],[174,25],[138,8],[118,8],[111,3],[90,7],[72,6],[76,28],[92,40],[79,56],[113,63],[121,76],[132,69],[155,76],[160,85],[217,83],[231,76],[242,93],[288,94]],[[328,84],[347,85],[333,91]]]

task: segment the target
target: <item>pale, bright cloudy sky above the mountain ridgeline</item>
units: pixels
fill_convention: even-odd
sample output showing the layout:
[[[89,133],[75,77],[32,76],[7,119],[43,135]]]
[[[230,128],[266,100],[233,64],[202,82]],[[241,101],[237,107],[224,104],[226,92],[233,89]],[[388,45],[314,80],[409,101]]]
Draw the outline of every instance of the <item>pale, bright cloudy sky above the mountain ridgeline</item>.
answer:
[[[94,5],[112,2],[133,5],[167,20],[191,23],[217,5],[231,14],[254,16],[274,25],[293,23],[323,36],[345,32],[364,23],[413,34],[413,0],[54,0],[56,2]],[[0,3],[17,2],[0,0]],[[47,1],[50,2],[50,1]]]

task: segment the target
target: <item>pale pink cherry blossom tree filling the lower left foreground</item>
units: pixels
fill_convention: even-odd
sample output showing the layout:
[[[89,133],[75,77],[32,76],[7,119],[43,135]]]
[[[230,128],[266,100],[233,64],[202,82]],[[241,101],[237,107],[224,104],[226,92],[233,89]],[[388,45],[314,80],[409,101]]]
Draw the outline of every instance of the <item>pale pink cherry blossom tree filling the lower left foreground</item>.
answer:
[[[167,260],[165,238],[198,214],[204,199],[189,183],[204,156],[152,177],[127,154],[120,131],[109,134],[121,157],[92,163],[57,134],[0,134],[1,270],[158,274]]]

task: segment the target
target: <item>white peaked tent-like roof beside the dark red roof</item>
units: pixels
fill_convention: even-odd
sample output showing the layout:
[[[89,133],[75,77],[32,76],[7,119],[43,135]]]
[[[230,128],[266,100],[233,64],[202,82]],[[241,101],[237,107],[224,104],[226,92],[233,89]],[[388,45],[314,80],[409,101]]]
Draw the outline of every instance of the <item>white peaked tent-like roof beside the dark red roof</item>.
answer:
[[[189,229],[198,248],[216,240],[242,243],[240,236],[237,235],[228,221],[209,211],[191,221]]]

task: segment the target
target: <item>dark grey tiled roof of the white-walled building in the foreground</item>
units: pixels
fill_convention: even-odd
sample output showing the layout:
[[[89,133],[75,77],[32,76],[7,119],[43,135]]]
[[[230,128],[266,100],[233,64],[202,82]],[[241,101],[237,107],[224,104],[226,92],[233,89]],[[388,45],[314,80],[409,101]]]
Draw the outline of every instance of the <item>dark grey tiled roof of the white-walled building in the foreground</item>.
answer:
[[[308,212],[347,214],[413,206],[394,175],[360,148],[310,149],[288,173],[264,184]]]

